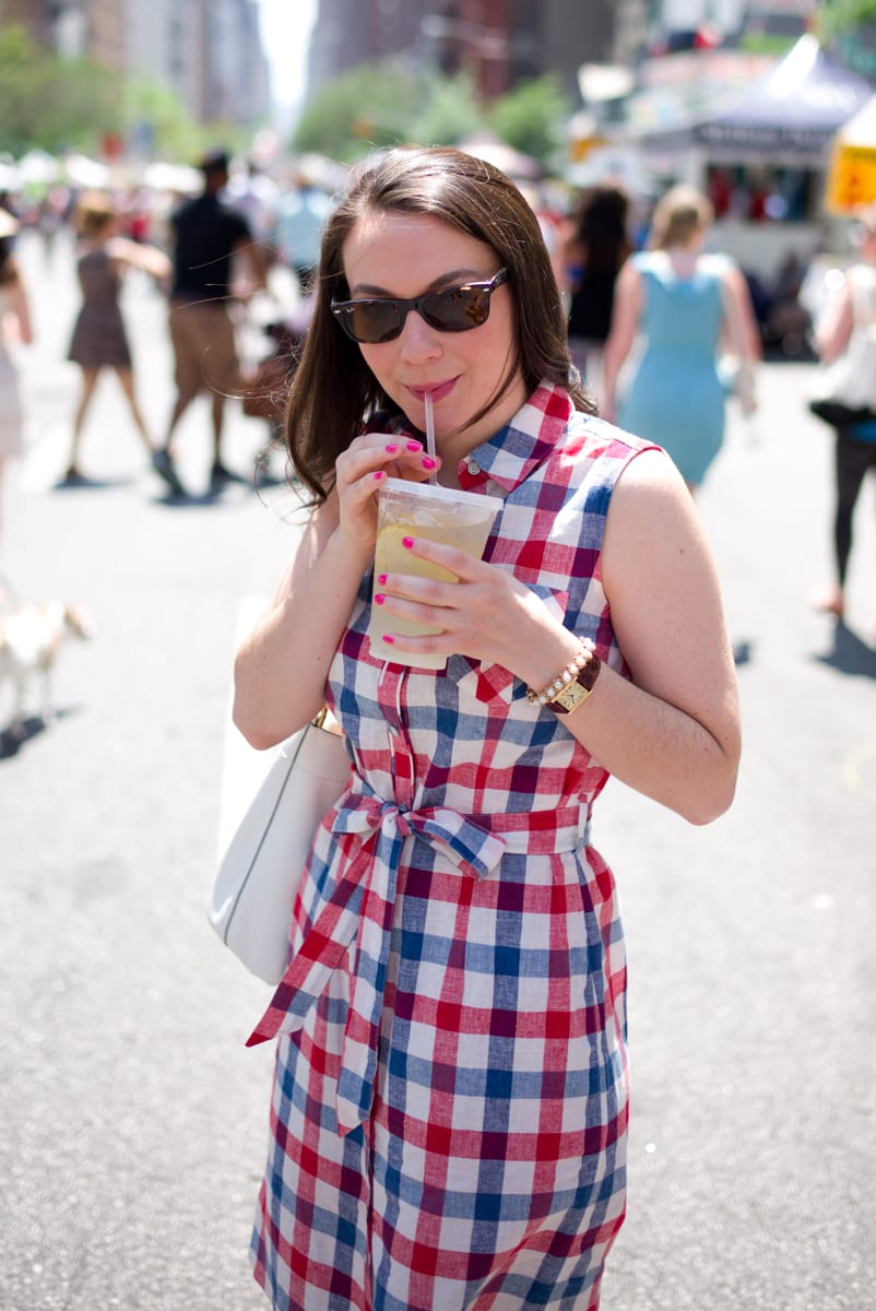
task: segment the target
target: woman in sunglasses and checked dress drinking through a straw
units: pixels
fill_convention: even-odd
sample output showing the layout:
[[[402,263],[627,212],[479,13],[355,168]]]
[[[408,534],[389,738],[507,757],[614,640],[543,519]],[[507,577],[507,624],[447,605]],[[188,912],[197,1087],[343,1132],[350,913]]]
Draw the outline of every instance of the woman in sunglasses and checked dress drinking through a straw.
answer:
[[[253,1238],[283,1311],[599,1302],[624,1214],[626,968],[591,802],[611,771],[708,822],[738,724],[683,484],[570,371],[538,222],[504,174],[408,148],[353,180],[286,416],[316,509],[236,661],[253,746],[328,699],[353,763],[250,1037],[283,1034]],[[407,539],[459,582],[380,576],[386,612],[438,635],[376,650],[376,496],[435,463],[504,510],[483,561]],[[447,653],[446,671],[392,663],[401,649]]]

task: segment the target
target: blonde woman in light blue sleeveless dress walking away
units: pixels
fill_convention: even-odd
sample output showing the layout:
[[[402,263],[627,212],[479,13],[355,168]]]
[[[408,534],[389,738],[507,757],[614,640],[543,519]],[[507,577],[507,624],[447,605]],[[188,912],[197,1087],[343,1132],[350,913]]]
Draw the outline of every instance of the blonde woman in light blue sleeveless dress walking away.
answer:
[[[753,408],[759,338],[745,278],[729,256],[704,252],[712,206],[691,186],[671,187],[654,208],[652,249],[631,256],[615,288],[601,409],[662,446],[691,492],[724,440],[728,349]],[[623,400],[618,375],[639,333],[644,351]]]

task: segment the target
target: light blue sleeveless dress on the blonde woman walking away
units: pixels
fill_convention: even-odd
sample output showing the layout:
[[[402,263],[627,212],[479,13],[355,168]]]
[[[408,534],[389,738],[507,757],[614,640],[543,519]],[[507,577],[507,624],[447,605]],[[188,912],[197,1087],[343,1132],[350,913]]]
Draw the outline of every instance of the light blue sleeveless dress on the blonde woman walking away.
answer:
[[[618,423],[671,456],[682,477],[698,486],[724,440],[725,384],[720,353],[721,274],[725,256],[700,256],[691,278],[675,277],[662,252],[631,257],[644,287],[644,354]]]

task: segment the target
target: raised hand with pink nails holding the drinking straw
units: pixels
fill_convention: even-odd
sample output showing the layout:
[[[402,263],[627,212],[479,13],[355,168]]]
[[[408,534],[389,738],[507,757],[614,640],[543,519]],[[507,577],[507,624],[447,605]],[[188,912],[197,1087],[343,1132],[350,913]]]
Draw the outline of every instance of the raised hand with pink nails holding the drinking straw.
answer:
[[[367,558],[378,534],[378,492],[387,477],[424,482],[441,468],[414,438],[392,433],[357,437],[334,461],[338,531]]]

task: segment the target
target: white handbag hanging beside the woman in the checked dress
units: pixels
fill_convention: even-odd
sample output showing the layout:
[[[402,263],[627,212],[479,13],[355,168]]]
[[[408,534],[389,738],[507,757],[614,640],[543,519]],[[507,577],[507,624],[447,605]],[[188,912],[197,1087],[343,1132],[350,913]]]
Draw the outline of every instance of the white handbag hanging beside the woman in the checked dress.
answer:
[[[323,711],[273,753],[212,884],[207,916],[252,974],[279,983],[313,834],[350,780],[337,721]]]

